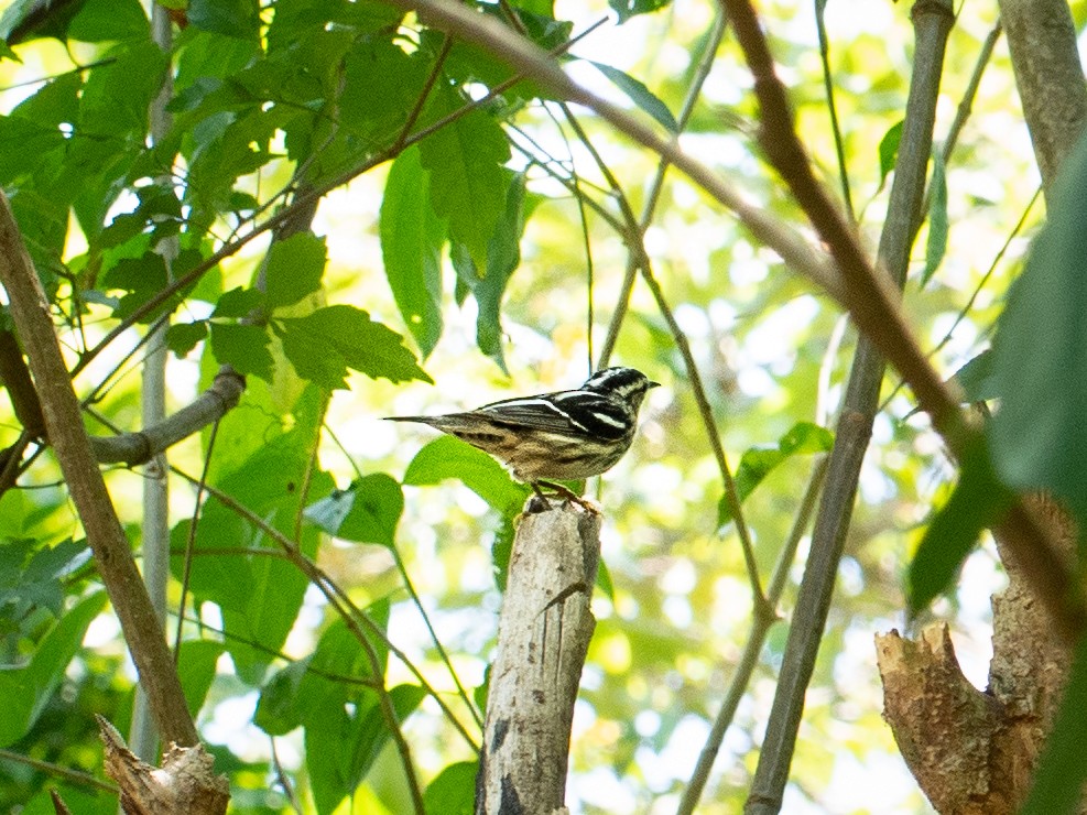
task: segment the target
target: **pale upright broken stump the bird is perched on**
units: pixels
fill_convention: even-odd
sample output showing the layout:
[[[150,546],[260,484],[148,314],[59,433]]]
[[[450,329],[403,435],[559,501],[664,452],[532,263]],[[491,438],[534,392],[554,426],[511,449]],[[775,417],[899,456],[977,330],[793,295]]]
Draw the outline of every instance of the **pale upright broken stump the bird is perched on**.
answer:
[[[521,519],[491,667],[477,815],[563,809],[599,553],[596,512],[565,503]]]

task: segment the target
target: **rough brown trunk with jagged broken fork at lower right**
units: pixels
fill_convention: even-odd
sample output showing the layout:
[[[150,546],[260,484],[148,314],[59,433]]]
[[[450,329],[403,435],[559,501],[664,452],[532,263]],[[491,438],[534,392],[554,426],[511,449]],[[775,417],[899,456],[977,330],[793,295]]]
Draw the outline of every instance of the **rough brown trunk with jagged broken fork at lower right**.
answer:
[[[1070,558],[1076,530],[1044,496],[1029,508]],[[963,676],[947,626],[918,642],[896,631],[876,638],[883,717],[902,758],[941,815],[1011,815],[1030,792],[1039,753],[1061,705],[1070,652],[1007,556],[1008,588],[992,598],[989,687]],[[1080,807],[1080,812],[1085,812]]]

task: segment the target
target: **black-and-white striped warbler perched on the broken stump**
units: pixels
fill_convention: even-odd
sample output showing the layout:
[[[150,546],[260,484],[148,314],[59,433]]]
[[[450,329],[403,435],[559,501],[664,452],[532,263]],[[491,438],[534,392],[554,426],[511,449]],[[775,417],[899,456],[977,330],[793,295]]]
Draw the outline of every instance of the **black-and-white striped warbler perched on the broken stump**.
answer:
[[[645,391],[656,385],[633,368],[605,368],[573,391],[507,399],[465,413],[389,420],[428,424],[489,453],[546,503],[541,485],[572,495],[545,479],[598,476],[622,458]]]

